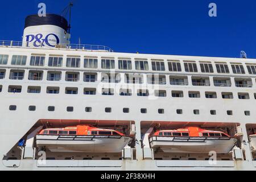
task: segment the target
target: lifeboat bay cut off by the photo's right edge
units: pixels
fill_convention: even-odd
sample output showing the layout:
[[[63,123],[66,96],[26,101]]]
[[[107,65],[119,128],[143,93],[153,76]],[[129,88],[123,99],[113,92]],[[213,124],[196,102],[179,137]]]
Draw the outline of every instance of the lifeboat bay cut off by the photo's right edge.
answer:
[[[246,124],[246,133],[249,139],[251,155],[256,160],[256,124]]]

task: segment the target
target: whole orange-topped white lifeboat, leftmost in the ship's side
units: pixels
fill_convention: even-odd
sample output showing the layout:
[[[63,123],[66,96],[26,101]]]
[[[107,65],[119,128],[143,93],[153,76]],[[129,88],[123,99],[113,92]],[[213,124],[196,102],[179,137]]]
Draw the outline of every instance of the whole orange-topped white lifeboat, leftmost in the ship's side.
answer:
[[[79,125],[42,130],[36,135],[36,146],[51,152],[121,152],[131,140],[115,130]]]

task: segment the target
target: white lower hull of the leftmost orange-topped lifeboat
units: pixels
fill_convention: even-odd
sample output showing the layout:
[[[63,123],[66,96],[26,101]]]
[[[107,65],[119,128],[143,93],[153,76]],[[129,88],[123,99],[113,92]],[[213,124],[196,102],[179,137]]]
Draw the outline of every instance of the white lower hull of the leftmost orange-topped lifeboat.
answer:
[[[132,139],[125,136],[36,135],[36,146],[45,146],[51,152],[121,152]]]

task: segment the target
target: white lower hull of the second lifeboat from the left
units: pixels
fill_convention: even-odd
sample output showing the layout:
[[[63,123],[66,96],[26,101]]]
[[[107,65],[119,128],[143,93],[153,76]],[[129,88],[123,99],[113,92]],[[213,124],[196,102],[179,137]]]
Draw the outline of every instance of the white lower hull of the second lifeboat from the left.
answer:
[[[150,141],[152,148],[159,148],[163,152],[208,154],[210,151],[215,151],[218,154],[227,154],[232,150],[237,139],[151,137]]]

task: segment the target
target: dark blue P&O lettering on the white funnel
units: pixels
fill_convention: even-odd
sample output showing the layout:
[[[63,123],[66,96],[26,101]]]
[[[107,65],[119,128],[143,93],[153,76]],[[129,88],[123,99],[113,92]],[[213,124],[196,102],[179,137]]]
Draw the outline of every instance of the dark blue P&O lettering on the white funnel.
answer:
[[[55,34],[48,34],[43,38],[43,34],[37,35],[26,35],[26,42],[33,43],[35,47],[50,46],[55,47],[56,44],[60,43],[60,39]]]

